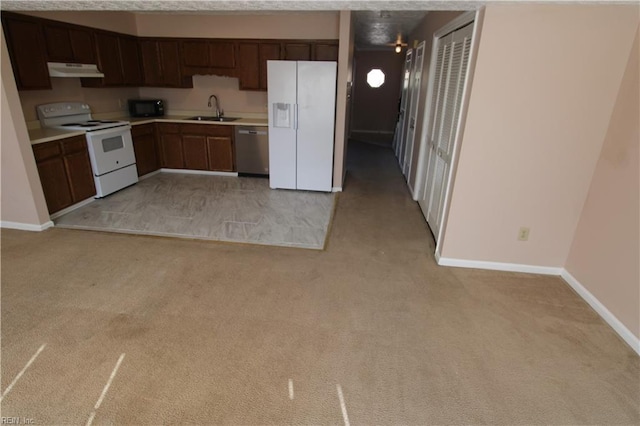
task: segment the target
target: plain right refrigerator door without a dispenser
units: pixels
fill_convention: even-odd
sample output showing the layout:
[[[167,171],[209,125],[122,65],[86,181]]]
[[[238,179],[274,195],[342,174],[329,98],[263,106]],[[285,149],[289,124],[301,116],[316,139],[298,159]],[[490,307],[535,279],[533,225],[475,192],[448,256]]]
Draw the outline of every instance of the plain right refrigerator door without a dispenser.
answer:
[[[336,73],[336,62],[298,62],[297,189],[331,191]]]

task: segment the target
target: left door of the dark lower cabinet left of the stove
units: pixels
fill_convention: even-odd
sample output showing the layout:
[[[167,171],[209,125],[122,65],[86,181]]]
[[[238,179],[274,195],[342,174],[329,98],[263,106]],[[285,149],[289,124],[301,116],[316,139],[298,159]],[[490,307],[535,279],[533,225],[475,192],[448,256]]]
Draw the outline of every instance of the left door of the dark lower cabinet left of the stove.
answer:
[[[72,205],[71,189],[62,157],[41,161],[37,166],[49,213],[55,213]]]

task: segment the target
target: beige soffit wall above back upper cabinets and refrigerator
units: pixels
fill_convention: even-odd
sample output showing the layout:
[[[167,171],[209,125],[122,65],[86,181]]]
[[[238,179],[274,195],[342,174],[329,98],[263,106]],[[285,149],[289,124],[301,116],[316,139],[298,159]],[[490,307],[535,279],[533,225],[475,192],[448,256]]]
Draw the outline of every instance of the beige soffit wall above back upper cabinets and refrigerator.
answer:
[[[136,14],[139,36],[337,39],[338,12],[250,14]]]

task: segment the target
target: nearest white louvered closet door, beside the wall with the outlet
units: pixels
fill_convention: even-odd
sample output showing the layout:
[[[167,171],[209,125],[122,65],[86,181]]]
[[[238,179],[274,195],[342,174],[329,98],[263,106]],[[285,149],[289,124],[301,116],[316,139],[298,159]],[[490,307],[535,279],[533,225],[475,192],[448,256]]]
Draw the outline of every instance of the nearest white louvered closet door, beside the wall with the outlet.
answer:
[[[454,142],[458,134],[460,106],[469,68],[473,23],[438,41],[435,81],[428,133],[428,168],[425,192],[419,197],[427,223],[438,238],[443,219],[445,196]]]

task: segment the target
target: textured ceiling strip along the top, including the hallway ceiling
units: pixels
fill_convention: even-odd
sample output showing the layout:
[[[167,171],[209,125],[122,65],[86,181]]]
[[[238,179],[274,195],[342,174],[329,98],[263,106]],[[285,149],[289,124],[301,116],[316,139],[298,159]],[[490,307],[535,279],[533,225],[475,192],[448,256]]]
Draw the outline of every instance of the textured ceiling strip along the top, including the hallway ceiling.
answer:
[[[287,1],[287,0],[0,0],[2,10],[92,10],[131,11],[136,13],[285,13],[302,11],[354,11],[355,43],[358,49],[392,48],[400,37],[403,42],[429,10],[472,10],[478,1]]]

